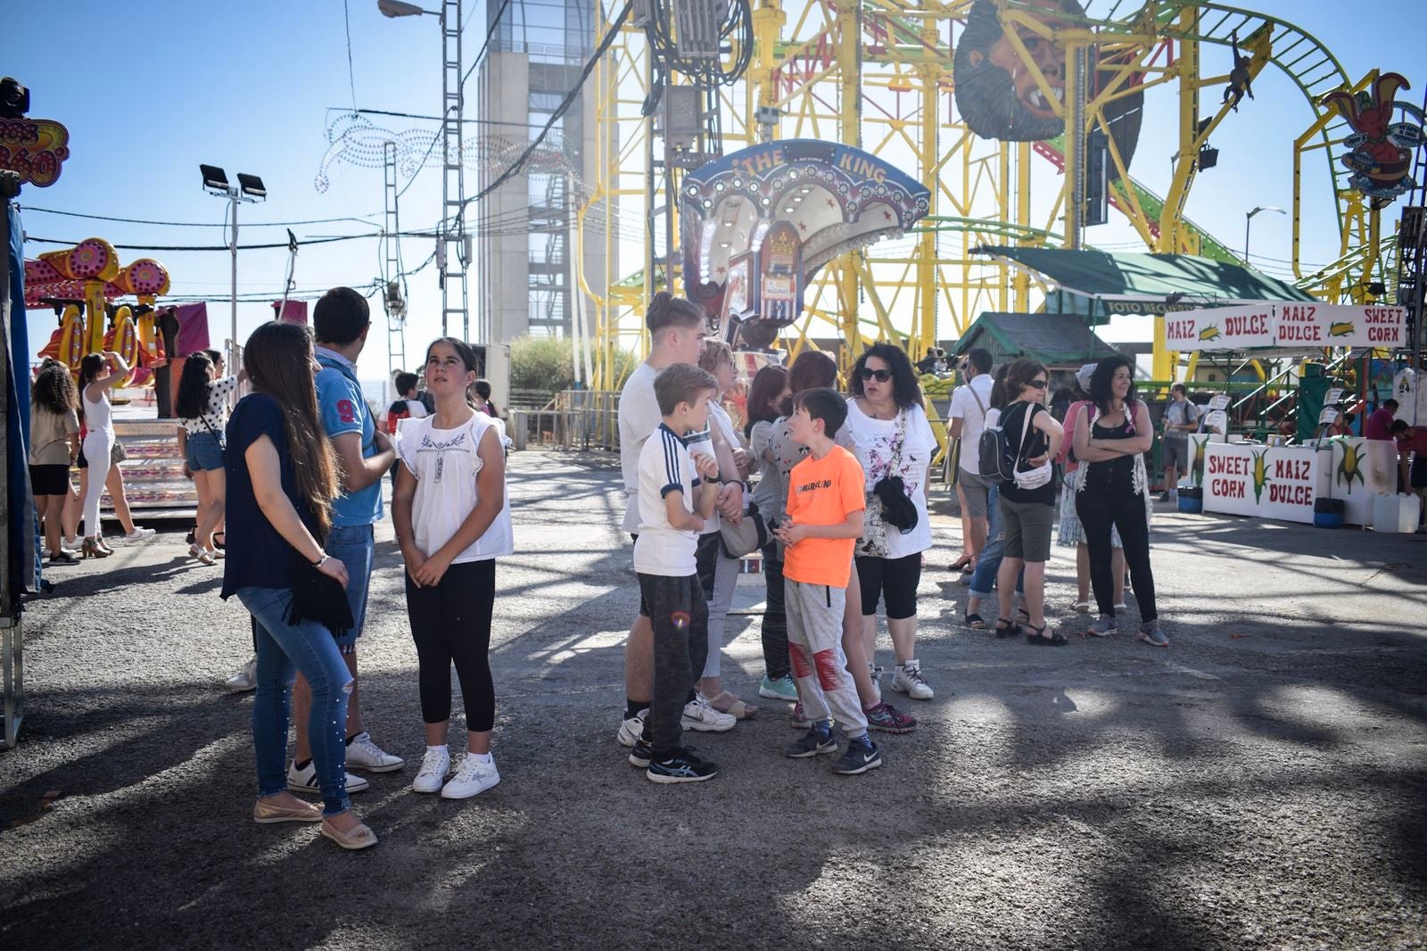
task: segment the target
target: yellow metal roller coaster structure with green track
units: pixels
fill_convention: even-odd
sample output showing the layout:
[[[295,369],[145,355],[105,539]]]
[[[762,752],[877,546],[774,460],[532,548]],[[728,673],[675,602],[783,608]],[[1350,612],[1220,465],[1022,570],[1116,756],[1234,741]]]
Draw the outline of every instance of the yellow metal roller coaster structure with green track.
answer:
[[[1037,306],[1035,274],[972,254],[977,246],[1079,247],[1082,206],[1072,200],[1082,149],[1076,137],[1042,141],[983,139],[965,123],[956,103],[956,44],[968,31],[973,7],[985,20],[987,6],[1003,31],[1002,56],[1019,60],[1015,74],[1026,96],[1060,120],[1060,129],[1109,137],[1109,203],[1144,241],[1146,250],[1183,253],[1239,263],[1227,247],[1184,217],[1200,149],[1229,116],[1220,90],[1230,74],[1206,74],[1200,50],[1234,47],[1249,80],[1270,66],[1301,90],[1310,121],[1293,146],[1293,273],[1310,293],[1341,303],[1368,303],[1364,288],[1386,268],[1378,213],[1346,183],[1341,140],[1351,133],[1321,99],[1357,93],[1374,79],[1351,81],[1337,59],[1314,37],[1277,17],[1180,0],[1147,0],[1133,10],[1123,0],[1090,0],[1082,13],[1075,0],[753,0],[755,49],[741,81],[719,90],[725,153],[773,139],[821,139],[875,153],[918,178],[932,193],[928,217],[902,241],[849,253],[828,264],[809,286],[799,324],[791,328],[796,350],[812,337],[841,337],[849,351],[879,338],[906,340],[913,358],[939,336],[959,336],[983,310],[1027,311]],[[599,34],[606,26],[601,24]],[[1009,46],[1009,53],[1007,47]],[[1224,57],[1217,57],[1222,61]],[[1077,64],[1092,63],[1089,69]],[[1097,79],[1090,80],[1092,74]],[[595,307],[594,388],[615,388],[615,351],[642,350],[642,314],[662,288],[681,293],[678,256],[661,246],[651,213],[645,156],[655,134],[641,116],[649,93],[645,33],[625,26],[591,76],[596,129],[595,176],[581,208],[577,236],[604,243],[599,280],[578,276]],[[678,81],[678,80],[675,80]],[[1173,84],[1179,101],[1179,141],[1173,177],[1159,196],[1130,174],[1133,137],[1112,134],[1133,113],[1132,97]],[[1209,94],[1204,94],[1209,91]],[[1127,110],[1126,106],[1130,106]],[[759,124],[756,116],[776,120]],[[1132,116],[1136,136],[1139,119]],[[1052,161],[1065,174],[1046,194],[1033,194],[1032,168]],[[1319,273],[1300,263],[1306,161],[1327,161],[1331,200],[1340,226],[1340,258]],[[654,194],[662,203],[664,196]],[[598,211],[586,231],[585,216]],[[678,230],[675,228],[675,234]],[[644,241],[655,254],[646,260]],[[624,254],[621,254],[624,246]],[[631,248],[638,248],[632,253]],[[577,254],[577,261],[584,254]],[[622,267],[621,267],[622,266]],[[1374,287],[1378,284],[1373,284]],[[591,293],[591,287],[605,288]],[[893,314],[910,333],[893,328]],[[1172,378],[1177,358],[1164,348],[1163,318],[1156,320],[1154,377]]]

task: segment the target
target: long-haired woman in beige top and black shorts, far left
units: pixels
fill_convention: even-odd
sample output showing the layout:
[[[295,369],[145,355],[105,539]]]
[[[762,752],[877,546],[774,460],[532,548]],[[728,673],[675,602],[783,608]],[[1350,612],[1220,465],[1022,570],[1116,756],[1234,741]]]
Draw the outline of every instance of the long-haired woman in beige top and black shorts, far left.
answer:
[[[60,538],[70,498],[70,466],[80,454],[80,400],[68,367],[47,360],[30,388],[30,491],[34,517],[44,525],[50,564],[74,564]]]

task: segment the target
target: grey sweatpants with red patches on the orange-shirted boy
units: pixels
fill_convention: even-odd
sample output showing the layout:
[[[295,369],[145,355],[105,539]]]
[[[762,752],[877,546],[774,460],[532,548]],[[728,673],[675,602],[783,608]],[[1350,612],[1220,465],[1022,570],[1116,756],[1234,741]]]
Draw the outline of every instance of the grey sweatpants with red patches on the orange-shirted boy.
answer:
[[[868,718],[848,674],[848,655],[842,653],[846,601],[843,588],[783,577],[788,660],[803,714],[812,721],[831,717],[849,737],[860,737],[868,733]]]

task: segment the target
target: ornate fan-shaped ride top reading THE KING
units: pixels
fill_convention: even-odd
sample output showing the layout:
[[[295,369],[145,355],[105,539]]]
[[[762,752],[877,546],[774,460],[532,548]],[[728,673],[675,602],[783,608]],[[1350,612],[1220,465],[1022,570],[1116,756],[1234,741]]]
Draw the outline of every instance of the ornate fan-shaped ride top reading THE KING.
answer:
[[[873,154],[812,139],[752,146],[679,186],[684,284],[729,343],[761,350],[803,308],[818,270],[900,237],[930,193]]]

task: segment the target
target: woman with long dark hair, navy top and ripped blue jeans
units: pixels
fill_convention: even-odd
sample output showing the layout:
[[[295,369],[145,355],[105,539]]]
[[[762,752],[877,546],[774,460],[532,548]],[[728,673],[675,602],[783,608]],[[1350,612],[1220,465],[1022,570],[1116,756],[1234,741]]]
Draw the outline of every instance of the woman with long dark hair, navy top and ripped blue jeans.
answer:
[[[377,835],[347,800],[345,724],[352,675],[332,631],[313,620],[290,621],[298,558],[347,587],[347,568],[323,551],[340,487],[337,456],[317,416],[313,334],[298,324],[268,323],[243,351],[254,391],[228,420],[225,458],[233,523],[223,593],[253,615],[257,694],[253,748],[257,757],[255,822],[321,822],[342,848],[367,848]],[[287,727],[293,680],[301,671],[313,691],[307,735],[324,808],[288,792]]]

